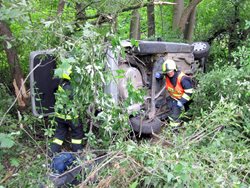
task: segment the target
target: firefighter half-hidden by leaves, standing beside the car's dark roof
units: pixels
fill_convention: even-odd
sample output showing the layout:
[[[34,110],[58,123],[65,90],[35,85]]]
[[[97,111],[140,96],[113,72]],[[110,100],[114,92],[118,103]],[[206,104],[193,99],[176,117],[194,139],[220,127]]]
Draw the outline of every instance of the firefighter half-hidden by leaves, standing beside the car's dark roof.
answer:
[[[61,151],[67,132],[71,129],[71,147],[73,152],[83,149],[83,126],[73,107],[73,91],[70,85],[71,66],[61,75],[61,82],[56,92],[55,121],[56,131],[50,149],[52,154]]]

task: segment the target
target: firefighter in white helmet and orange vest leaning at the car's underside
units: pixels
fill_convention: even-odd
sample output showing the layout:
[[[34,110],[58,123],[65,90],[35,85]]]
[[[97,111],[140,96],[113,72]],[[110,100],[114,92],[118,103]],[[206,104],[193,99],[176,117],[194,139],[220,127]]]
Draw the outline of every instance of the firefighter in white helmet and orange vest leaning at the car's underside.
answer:
[[[162,74],[166,75],[166,90],[169,93],[167,105],[170,109],[169,117],[173,120],[172,125],[180,125],[180,115],[182,111],[189,109],[190,99],[193,93],[191,78],[183,72],[178,71],[176,63],[172,59],[167,59],[162,64]],[[156,73],[155,77],[161,76]]]

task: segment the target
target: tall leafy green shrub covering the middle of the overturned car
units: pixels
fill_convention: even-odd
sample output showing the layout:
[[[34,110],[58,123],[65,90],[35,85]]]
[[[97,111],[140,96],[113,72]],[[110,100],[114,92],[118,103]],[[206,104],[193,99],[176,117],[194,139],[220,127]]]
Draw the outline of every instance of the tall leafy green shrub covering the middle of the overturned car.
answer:
[[[86,133],[89,144],[110,145],[117,138],[122,138],[121,134],[127,135],[128,116],[122,110],[122,104],[115,104],[115,101],[104,93],[104,86],[116,79],[108,69],[106,69],[106,53],[110,44],[105,40],[113,37],[107,34],[100,35],[95,28],[86,24],[75,36],[71,36],[63,46],[58,49],[58,69],[55,73],[72,66],[71,85],[73,87],[74,98],[69,102],[67,108],[79,113],[84,127],[91,127]],[[118,43],[114,43],[119,45]],[[111,47],[110,47],[111,48]],[[117,55],[116,46],[113,46],[114,53]],[[61,60],[61,61],[60,61]],[[64,64],[64,66],[62,66]],[[59,70],[60,69],[60,70]],[[55,75],[56,76],[56,75]],[[65,97],[61,97],[65,103]],[[59,106],[60,107],[60,106]],[[98,124],[98,140],[92,132],[92,126]]]

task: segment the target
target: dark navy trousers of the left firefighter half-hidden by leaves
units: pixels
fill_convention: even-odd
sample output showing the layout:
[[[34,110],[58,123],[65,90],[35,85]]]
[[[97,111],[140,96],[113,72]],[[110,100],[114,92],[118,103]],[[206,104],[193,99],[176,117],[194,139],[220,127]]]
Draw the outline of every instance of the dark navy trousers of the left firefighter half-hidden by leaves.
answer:
[[[69,128],[71,129],[71,139],[81,140],[83,138],[83,126],[78,120],[75,120],[76,122],[74,122],[74,120],[64,120],[57,117],[55,118],[55,120],[57,122],[57,127],[54,135],[55,139],[64,141],[67,132],[69,131]],[[78,144],[71,143],[71,145],[73,152],[83,149],[82,143]],[[58,153],[60,151],[61,151],[61,145],[52,142],[51,152]]]

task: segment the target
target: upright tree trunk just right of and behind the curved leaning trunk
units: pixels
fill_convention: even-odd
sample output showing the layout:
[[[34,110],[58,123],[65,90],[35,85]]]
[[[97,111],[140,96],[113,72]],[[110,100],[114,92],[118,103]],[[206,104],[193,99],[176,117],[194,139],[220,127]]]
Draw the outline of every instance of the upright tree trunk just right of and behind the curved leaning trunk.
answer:
[[[194,27],[195,27],[195,15],[196,15],[196,7],[193,9],[191,14],[189,15],[188,22],[186,23],[184,30],[184,39],[192,42]]]

